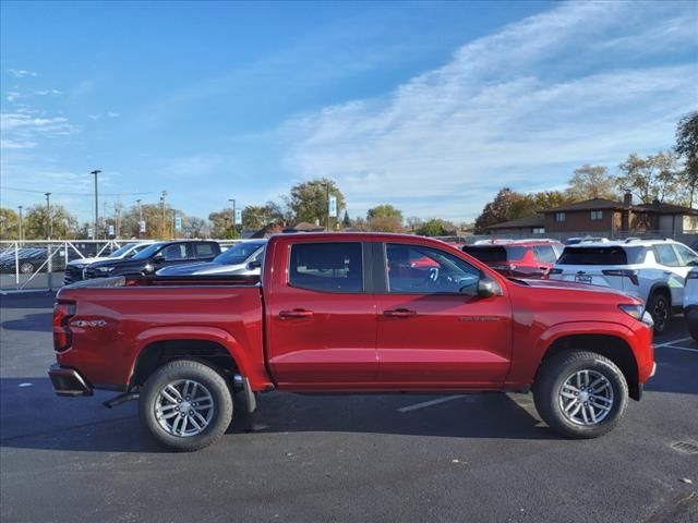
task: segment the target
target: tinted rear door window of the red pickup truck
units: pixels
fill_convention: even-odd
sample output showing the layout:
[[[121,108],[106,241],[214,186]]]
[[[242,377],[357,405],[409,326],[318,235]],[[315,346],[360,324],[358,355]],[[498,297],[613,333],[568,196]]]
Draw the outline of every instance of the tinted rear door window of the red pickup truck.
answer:
[[[297,243],[289,283],[322,292],[363,292],[361,243]]]

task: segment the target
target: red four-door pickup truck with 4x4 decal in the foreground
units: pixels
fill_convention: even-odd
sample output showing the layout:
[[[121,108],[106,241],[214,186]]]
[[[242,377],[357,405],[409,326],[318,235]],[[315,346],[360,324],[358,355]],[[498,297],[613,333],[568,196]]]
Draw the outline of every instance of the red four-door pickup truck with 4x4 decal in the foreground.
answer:
[[[426,260],[426,262],[424,262]],[[232,393],[528,391],[557,433],[611,430],[654,372],[631,296],[507,279],[436,240],[273,236],[255,277],[116,277],[63,288],[61,396],[121,392],[173,450],[221,437]]]

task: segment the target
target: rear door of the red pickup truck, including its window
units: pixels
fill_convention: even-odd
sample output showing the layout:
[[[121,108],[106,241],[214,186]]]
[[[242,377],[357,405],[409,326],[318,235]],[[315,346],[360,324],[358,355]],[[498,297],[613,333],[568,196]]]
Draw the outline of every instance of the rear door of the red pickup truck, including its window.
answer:
[[[357,241],[294,239],[275,245],[273,280],[265,282],[267,357],[280,387],[373,386],[375,303],[364,250]]]

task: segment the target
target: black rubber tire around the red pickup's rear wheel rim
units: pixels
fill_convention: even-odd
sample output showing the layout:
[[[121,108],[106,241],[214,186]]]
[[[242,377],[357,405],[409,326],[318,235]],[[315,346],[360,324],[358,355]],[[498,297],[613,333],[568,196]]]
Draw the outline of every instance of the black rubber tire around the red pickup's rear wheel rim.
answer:
[[[181,380],[195,381],[203,386],[212,398],[213,412],[208,425],[195,435],[180,436],[168,431],[161,425],[161,423],[165,423],[165,425],[168,425],[168,423],[158,419],[156,413],[157,404],[161,401],[160,391],[168,384]],[[192,403],[192,405],[195,405],[195,403]],[[180,410],[179,406],[177,406],[177,410]],[[205,414],[207,411],[202,412]],[[191,360],[177,360],[158,368],[143,386],[139,403],[141,421],[148,431],[163,447],[177,452],[191,452],[216,442],[230,425],[232,413],[232,391],[228,380],[215,368]],[[186,417],[186,414],[182,417]],[[189,417],[191,418],[192,416]],[[189,422],[189,419],[186,421]]]

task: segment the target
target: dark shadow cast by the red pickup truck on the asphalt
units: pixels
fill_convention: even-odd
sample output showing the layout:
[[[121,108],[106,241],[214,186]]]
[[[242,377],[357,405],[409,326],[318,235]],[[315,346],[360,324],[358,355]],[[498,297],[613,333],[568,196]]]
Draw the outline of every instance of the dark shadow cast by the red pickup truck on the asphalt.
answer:
[[[29,385],[27,385],[29,384]],[[164,452],[142,428],[136,402],[113,410],[101,402],[113,393],[59,398],[48,378],[0,379],[0,447],[79,452]],[[462,396],[410,412],[406,405],[438,396],[381,394],[308,397],[277,392],[260,399],[260,410],[236,416],[222,441],[249,433],[364,433],[489,439],[559,439],[505,394]],[[521,406],[524,405],[524,406]]]

